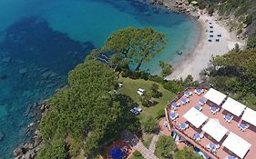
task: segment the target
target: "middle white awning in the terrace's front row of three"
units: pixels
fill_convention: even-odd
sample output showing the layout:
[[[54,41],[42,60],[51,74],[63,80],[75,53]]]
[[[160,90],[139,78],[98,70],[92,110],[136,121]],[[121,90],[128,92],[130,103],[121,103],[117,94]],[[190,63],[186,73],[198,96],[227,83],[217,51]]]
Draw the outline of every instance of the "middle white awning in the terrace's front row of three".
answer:
[[[217,142],[223,138],[223,136],[228,132],[228,129],[222,126],[217,119],[210,119],[203,127],[202,131],[210,134]]]

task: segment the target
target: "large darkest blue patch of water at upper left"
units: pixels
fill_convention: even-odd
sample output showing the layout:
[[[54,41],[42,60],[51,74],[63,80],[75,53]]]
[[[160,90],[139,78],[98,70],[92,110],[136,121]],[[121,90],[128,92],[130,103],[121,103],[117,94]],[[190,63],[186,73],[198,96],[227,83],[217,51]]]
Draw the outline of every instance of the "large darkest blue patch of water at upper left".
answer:
[[[0,50],[11,58],[47,66],[56,72],[67,73],[81,62],[85,53],[94,48],[91,43],[71,40],[67,35],[52,31],[44,19],[29,17],[5,30]]]

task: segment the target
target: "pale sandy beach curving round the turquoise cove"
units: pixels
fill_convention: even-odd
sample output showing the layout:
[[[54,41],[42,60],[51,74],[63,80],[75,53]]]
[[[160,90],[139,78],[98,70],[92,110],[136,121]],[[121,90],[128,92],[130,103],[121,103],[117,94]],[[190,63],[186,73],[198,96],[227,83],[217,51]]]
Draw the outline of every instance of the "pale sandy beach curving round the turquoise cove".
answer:
[[[220,25],[214,16],[207,14],[200,15],[198,22],[200,24],[200,40],[194,50],[184,57],[184,60],[177,65],[173,65],[173,73],[166,79],[186,78],[192,75],[195,80],[200,80],[200,72],[210,65],[212,55],[224,55],[230,51],[237,43],[242,47],[244,42],[238,40],[234,33],[230,33],[228,28]],[[211,24],[210,24],[211,23]],[[210,25],[213,28],[210,28]],[[210,33],[213,31],[213,33]],[[221,36],[218,37],[217,35]],[[213,35],[213,37],[210,37]],[[209,42],[209,39],[212,41]],[[220,39],[219,42],[216,39]]]

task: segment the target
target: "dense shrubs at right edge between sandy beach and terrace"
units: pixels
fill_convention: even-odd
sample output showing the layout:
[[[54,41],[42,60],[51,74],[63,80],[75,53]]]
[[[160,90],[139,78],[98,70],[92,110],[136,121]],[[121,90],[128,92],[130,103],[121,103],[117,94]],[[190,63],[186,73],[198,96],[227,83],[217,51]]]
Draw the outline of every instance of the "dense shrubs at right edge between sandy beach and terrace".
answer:
[[[210,84],[256,109],[256,50],[232,51],[213,58]]]

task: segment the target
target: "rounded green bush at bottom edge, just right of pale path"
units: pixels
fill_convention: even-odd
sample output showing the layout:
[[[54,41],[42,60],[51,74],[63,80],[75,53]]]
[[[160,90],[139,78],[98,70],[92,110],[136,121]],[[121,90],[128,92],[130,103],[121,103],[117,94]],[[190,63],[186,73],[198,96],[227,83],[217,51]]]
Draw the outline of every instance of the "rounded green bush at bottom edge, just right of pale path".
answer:
[[[175,154],[175,143],[173,138],[166,135],[159,136],[155,154],[159,156],[160,159],[172,158],[173,154]]]

